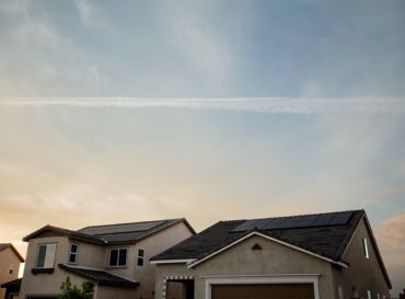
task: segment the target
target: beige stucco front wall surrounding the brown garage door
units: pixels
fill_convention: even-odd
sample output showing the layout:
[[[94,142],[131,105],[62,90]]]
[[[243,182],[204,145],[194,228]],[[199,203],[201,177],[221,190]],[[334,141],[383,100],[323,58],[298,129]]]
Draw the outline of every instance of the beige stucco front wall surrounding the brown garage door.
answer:
[[[254,244],[262,250],[252,250]],[[251,237],[228,249],[195,268],[188,269],[185,264],[159,264],[157,269],[155,298],[163,298],[164,279],[170,276],[193,276],[195,298],[206,298],[206,281],[212,277],[251,278],[288,277],[289,275],[319,275],[321,299],[333,299],[333,277],[331,263],[299,252],[258,235]]]

